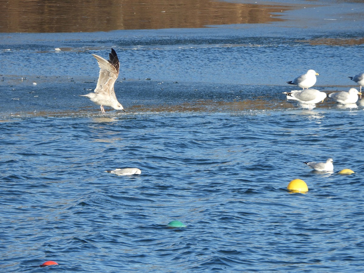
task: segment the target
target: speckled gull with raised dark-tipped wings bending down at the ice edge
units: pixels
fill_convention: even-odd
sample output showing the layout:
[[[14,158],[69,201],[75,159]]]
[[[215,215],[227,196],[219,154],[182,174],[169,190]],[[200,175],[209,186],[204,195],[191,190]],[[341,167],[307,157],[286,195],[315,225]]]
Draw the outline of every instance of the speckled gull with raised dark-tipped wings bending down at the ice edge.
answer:
[[[119,75],[119,59],[114,49],[111,48],[109,60],[92,54],[99,64],[100,74],[94,93],[88,93],[85,96],[92,102],[99,104],[101,112],[105,112],[104,106],[110,106],[115,110],[124,110],[123,106],[118,102],[115,96],[114,84]]]

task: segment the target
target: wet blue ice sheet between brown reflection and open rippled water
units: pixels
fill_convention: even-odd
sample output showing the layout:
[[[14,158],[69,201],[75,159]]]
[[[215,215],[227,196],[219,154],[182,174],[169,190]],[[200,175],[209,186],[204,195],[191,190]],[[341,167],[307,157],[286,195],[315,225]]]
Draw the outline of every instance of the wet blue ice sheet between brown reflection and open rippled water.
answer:
[[[0,84],[7,103],[2,113],[15,114],[20,109],[77,112],[93,106],[78,95],[96,86],[98,66],[91,54],[107,58],[111,47],[120,60],[116,95],[126,109],[136,106],[139,111],[160,104],[181,110],[181,104],[209,100],[251,100],[253,109],[255,104],[286,108],[281,93],[299,89],[286,82],[310,68],[320,74],[314,87],[325,92],[356,87],[348,76],[361,71],[360,62],[352,56],[362,55],[362,45],[312,46],[302,36],[245,36],[249,34],[246,29],[221,27],[93,34],[78,33],[76,41],[68,37],[74,33],[59,34],[58,41],[46,39],[53,34],[36,34],[37,44],[14,43],[7,46],[9,50],[3,49]],[[16,42],[21,35],[11,34],[9,40]],[[55,51],[56,47],[61,51]],[[332,104],[329,99],[326,103]]]

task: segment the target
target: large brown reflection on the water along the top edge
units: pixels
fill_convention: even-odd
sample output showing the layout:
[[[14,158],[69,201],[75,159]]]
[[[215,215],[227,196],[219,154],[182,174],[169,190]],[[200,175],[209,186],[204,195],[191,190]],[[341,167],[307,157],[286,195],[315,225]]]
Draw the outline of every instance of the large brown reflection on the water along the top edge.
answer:
[[[0,32],[95,32],[116,29],[201,28],[280,21],[282,5],[211,0],[0,0]]]

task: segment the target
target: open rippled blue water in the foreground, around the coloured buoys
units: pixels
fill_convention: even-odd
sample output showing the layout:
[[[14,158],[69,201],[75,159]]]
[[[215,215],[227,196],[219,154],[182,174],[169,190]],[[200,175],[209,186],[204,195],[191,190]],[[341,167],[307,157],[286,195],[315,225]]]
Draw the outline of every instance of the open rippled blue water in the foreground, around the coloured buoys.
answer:
[[[359,270],[362,113],[2,122],[2,268],[36,272],[56,260],[56,272]],[[327,157],[356,174],[302,163]],[[104,172],[120,166],[142,174]],[[307,194],[286,190],[294,178]],[[167,228],[174,219],[187,227]]]

